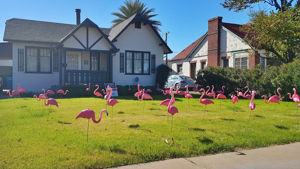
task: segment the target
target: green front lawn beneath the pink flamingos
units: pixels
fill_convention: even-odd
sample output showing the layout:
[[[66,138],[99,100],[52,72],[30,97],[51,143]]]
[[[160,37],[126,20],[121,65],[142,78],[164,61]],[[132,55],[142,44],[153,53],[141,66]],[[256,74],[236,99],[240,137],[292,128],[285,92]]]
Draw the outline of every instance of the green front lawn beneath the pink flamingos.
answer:
[[[195,95],[199,98],[199,95]],[[239,100],[233,112],[231,100],[214,100],[206,107],[199,99],[176,99],[179,113],[167,123],[165,96],[153,96],[143,102],[135,97],[118,97],[98,124],[76,115],[83,109],[105,109],[104,99],[57,99],[59,108],[33,98],[0,100],[0,168],[105,168],[178,157],[193,157],[221,152],[252,149],[300,141],[300,111],[296,103],[265,104],[254,100],[250,114],[247,100]],[[96,100],[96,103],[95,103]],[[182,102],[180,100],[183,100]],[[125,120],[125,122],[121,122]],[[174,138],[174,145],[171,137]],[[165,143],[167,139],[169,143]]]

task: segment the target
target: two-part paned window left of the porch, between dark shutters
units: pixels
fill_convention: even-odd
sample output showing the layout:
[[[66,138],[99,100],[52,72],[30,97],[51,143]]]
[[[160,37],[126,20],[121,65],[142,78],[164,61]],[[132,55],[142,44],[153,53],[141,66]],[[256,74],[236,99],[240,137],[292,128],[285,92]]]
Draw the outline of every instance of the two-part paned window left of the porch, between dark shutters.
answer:
[[[27,73],[51,73],[52,52],[45,47],[25,47]]]

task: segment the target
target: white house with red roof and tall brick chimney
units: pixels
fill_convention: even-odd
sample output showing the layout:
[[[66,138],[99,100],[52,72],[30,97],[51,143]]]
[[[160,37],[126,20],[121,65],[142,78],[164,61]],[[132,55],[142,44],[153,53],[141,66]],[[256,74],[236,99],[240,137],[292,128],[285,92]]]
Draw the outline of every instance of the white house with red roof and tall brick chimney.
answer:
[[[264,51],[253,49],[243,42],[242,25],[222,22],[222,17],[208,20],[208,31],[171,59],[172,74],[182,74],[196,79],[199,69],[206,66],[222,66],[253,69],[261,64],[266,66]],[[246,52],[250,50],[251,52]]]

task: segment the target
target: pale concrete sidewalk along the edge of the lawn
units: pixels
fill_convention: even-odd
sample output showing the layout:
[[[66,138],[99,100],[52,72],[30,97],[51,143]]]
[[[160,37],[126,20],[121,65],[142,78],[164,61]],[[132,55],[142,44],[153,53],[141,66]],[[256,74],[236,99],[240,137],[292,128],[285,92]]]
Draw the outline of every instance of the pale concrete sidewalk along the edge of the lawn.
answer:
[[[113,169],[256,169],[300,168],[300,143],[229,152],[194,158],[176,158]]]

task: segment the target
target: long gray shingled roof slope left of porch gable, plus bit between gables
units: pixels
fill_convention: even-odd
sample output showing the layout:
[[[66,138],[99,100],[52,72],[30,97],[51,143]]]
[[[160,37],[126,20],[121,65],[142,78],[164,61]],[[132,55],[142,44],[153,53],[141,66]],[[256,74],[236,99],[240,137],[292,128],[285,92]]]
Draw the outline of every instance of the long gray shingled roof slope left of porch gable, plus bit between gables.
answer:
[[[3,41],[58,43],[78,25],[12,18],[6,21]],[[109,35],[110,28],[100,28]]]

